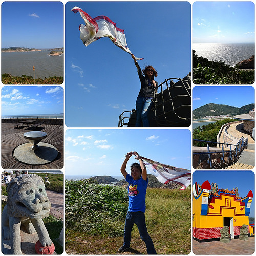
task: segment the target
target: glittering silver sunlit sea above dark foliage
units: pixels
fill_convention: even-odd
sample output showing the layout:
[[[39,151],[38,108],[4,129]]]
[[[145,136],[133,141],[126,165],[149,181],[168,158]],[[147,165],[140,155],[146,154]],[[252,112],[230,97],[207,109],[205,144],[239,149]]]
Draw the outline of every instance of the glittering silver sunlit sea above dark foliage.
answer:
[[[197,43],[192,44],[192,49],[199,57],[208,60],[225,61],[230,66],[235,66],[238,62],[249,59],[255,55],[255,44],[251,43]]]

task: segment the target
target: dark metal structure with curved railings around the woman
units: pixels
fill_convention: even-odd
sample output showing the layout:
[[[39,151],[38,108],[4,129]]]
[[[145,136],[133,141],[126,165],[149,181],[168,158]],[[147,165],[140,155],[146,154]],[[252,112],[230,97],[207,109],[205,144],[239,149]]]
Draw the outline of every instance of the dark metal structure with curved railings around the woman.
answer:
[[[173,80],[177,80],[174,82]],[[191,77],[169,78],[161,82],[148,113],[150,127],[189,127],[191,124]],[[136,110],[124,111],[118,127],[135,127]]]

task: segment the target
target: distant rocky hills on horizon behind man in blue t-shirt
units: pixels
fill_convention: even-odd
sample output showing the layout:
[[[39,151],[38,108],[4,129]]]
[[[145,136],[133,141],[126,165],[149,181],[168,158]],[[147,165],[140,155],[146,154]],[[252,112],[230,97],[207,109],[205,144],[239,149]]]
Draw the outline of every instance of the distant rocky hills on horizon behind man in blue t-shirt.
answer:
[[[168,188],[168,189],[177,189],[180,188],[180,185],[174,182],[169,182],[167,185],[162,184],[157,180],[157,178],[152,174],[147,174],[148,178],[148,187],[150,188]],[[109,176],[109,175],[102,175],[102,176],[94,176],[90,178],[91,180],[94,180],[98,184],[113,184],[115,182],[115,186],[120,186],[126,188],[128,186],[128,183],[125,181],[125,179],[122,179],[118,181],[117,179]],[[87,180],[87,179],[83,179]]]

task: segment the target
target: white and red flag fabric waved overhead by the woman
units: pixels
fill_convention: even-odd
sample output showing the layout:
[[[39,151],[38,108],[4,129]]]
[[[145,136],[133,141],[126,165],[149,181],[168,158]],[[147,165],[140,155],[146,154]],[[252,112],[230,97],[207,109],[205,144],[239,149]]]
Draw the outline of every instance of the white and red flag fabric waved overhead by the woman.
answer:
[[[102,37],[109,37],[116,46],[133,55],[127,46],[124,30],[116,27],[116,23],[112,22],[108,17],[98,16],[96,18],[91,18],[77,6],[73,7],[71,11],[74,13],[79,12],[85,22],[85,25],[80,24],[79,26],[80,39],[85,46],[90,45],[92,42]],[[143,58],[135,57],[135,59],[139,60]]]

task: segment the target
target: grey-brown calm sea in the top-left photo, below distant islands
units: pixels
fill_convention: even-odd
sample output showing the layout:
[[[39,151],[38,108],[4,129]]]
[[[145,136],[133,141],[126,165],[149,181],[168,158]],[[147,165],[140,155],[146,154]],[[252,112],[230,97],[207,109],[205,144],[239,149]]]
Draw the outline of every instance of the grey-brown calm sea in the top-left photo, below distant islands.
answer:
[[[64,58],[49,56],[49,49],[36,52],[2,52],[2,74],[12,76],[32,76],[35,67],[35,78],[48,78],[51,76],[64,76]]]

